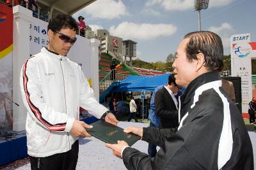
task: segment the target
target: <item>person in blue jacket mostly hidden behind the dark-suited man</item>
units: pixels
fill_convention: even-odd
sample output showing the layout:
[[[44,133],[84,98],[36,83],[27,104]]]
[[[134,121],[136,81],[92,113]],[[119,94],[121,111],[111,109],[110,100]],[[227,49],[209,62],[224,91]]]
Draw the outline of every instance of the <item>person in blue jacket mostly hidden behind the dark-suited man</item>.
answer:
[[[150,121],[149,123],[149,127],[156,127],[159,128],[159,124],[160,124],[160,118],[159,116],[157,116],[156,114],[156,106],[155,106],[155,96],[157,91],[159,91],[159,89],[162,89],[164,87],[164,85],[162,86],[158,86],[150,99],[150,112],[148,114],[148,120]],[[148,156],[149,157],[155,157],[156,155],[156,144],[152,144],[152,143],[148,143]]]

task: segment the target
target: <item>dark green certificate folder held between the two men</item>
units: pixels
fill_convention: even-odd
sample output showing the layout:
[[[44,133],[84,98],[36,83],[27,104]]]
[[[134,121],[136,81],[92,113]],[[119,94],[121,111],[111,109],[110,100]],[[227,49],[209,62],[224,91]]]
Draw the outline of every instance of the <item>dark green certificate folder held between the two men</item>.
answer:
[[[93,128],[86,128],[86,131],[103,141],[104,143],[115,144],[117,141],[125,141],[129,146],[136,143],[141,137],[132,133],[125,133],[123,128],[116,127],[104,120],[90,124]]]

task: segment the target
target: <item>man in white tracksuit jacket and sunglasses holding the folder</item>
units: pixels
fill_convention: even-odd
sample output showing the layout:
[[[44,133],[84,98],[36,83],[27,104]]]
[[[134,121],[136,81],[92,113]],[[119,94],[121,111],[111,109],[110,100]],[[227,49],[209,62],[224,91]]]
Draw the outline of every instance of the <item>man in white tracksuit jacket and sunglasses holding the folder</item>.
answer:
[[[81,67],[68,59],[76,42],[76,20],[57,15],[47,27],[49,47],[29,58],[20,74],[28,110],[26,134],[31,169],[76,169],[78,137],[90,137],[79,121],[79,107],[116,125],[115,116],[100,105]]]

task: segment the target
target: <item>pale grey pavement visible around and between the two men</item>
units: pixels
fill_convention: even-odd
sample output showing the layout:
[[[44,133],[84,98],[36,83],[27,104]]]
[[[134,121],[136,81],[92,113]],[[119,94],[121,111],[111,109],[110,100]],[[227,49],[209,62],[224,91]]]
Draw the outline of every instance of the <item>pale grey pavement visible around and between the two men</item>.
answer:
[[[148,123],[133,123],[120,121],[118,127],[148,127]],[[253,144],[253,156],[254,165],[256,162],[256,133],[248,132]],[[147,153],[148,144],[145,141],[138,141],[132,148],[136,148],[140,151]],[[30,164],[25,164],[18,169],[30,169]],[[79,139],[79,157],[77,161],[77,169],[100,169],[100,170],[112,170],[112,169],[126,169],[122,159],[113,155],[112,150],[106,148],[105,143],[96,139],[95,137],[81,138]]]

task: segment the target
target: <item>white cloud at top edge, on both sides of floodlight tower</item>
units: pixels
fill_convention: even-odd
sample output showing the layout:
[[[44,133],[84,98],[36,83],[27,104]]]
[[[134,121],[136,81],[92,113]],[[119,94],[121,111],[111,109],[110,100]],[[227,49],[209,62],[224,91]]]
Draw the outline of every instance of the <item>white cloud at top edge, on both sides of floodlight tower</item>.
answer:
[[[214,0],[209,1],[209,8],[214,6],[226,6],[234,0]],[[159,5],[164,10],[192,10],[194,8],[194,1],[192,0],[147,0],[146,8],[149,6]]]

